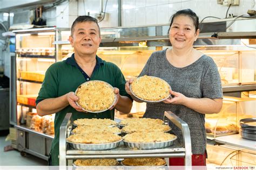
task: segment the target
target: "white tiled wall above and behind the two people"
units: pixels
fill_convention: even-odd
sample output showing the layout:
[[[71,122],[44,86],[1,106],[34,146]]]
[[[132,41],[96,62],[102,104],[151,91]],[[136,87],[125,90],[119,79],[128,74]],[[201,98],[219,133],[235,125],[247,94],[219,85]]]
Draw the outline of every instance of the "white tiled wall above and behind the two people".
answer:
[[[78,15],[91,16],[100,11],[100,0],[78,0]],[[106,0],[103,1],[103,10]],[[225,18],[228,6],[217,4],[217,0],[121,0],[122,26],[142,26],[169,24],[173,13],[180,9],[190,8],[199,16],[199,20],[207,16]],[[256,0],[240,0],[239,6],[231,6],[228,13],[234,16],[247,14],[248,9],[256,10]],[[73,9],[76,10],[76,9]],[[117,0],[108,0],[107,21],[99,23],[100,27],[116,27],[118,16]],[[210,20],[213,18],[207,18]]]

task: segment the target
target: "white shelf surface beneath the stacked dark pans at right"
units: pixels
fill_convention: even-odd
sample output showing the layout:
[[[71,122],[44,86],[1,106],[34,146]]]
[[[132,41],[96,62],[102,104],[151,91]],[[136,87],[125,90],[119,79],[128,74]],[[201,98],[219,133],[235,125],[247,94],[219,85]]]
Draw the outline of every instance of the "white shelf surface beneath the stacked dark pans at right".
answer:
[[[256,141],[244,139],[241,137],[240,134],[217,137],[215,138],[215,141],[221,144],[227,144],[231,146],[237,146],[248,150],[256,151]]]

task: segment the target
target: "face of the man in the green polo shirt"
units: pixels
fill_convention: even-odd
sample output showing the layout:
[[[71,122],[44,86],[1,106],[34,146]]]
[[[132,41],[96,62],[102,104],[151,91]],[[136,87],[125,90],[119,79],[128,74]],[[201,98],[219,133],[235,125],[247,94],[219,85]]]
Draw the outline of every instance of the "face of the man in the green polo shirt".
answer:
[[[99,28],[96,23],[77,23],[73,35],[69,37],[70,44],[78,55],[96,55],[100,41]]]

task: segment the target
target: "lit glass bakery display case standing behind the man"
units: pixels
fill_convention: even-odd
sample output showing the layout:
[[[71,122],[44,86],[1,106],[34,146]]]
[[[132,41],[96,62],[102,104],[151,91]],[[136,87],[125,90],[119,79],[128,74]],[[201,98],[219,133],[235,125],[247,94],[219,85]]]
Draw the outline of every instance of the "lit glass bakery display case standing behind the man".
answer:
[[[11,57],[10,124],[17,129],[17,149],[22,154],[47,160],[54,137],[54,114],[38,116],[36,98],[46,69],[58,61],[53,42],[60,37],[59,30],[48,27],[13,32],[16,54]]]

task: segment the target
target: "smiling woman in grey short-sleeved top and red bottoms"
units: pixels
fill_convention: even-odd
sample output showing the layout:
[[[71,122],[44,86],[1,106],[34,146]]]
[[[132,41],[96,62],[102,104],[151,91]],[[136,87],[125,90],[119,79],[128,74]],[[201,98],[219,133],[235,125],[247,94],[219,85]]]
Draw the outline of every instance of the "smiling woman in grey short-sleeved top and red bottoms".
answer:
[[[161,103],[147,103],[144,117],[163,119],[172,111],[185,121],[191,133],[192,165],[206,165],[205,114],[217,114],[222,107],[223,92],[217,66],[210,56],[193,48],[199,35],[198,17],[190,9],[176,12],[171,19],[169,39],[172,48],[152,53],[139,76],[160,77],[172,88],[172,98]],[[125,89],[131,94],[129,85]],[[140,102],[137,98],[132,98]],[[182,138],[174,125],[172,130]],[[183,158],[171,158],[170,165],[184,165]]]

